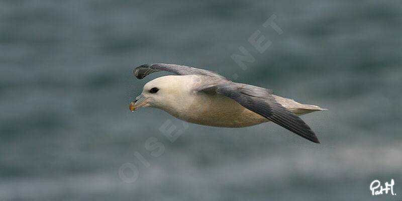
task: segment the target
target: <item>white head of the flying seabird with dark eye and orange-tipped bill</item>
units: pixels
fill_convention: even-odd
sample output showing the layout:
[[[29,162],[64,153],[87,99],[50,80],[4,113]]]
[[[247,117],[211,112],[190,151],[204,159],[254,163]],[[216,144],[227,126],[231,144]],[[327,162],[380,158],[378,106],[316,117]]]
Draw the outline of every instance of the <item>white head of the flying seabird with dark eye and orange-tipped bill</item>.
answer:
[[[187,76],[168,75],[158,77],[144,85],[142,93],[130,104],[134,112],[138,108],[174,109],[184,95],[190,92]]]

